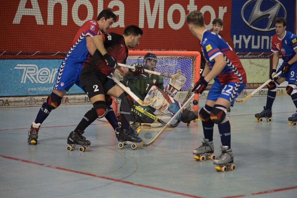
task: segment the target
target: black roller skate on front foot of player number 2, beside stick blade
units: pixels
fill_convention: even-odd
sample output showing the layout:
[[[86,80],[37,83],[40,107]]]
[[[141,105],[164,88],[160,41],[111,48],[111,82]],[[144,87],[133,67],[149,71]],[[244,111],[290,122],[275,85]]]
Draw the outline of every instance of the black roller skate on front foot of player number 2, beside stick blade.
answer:
[[[120,129],[119,132],[117,132],[117,138],[120,142],[118,144],[119,148],[123,148],[127,144],[131,144],[131,148],[135,149],[137,148],[137,145],[139,142],[142,142],[142,139],[140,137],[135,137],[131,129]]]

